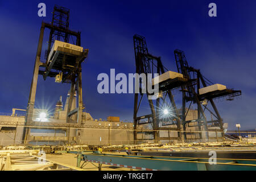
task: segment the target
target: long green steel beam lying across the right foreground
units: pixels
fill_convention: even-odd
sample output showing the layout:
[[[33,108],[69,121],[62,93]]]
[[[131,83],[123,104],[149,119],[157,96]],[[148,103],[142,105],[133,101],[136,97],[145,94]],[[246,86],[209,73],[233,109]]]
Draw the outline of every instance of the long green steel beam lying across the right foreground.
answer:
[[[80,163],[84,161],[98,163],[99,169],[101,164],[107,164],[144,171],[256,171],[254,159],[216,159],[216,164],[210,164],[209,158],[97,154],[95,151],[56,151],[56,153],[77,154],[77,167],[80,167]]]

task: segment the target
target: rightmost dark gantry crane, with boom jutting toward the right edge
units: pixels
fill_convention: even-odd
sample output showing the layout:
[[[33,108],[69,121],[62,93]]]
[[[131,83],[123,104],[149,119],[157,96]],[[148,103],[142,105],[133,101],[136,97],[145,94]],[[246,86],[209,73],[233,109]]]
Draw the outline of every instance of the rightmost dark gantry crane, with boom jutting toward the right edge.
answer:
[[[208,92],[205,94],[200,94],[201,88],[206,88],[208,85],[213,85],[207,78],[205,78],[200,69],[195,69],[193,67],[189,67],[187,59],[185,57],[185,53],[176,49],[174,51],[175,61],[177,66],[177,71],[182,73],[184,77],[188,78],[188,80],[192,80],[185,85],[181,86],[182,92],[182,114],[181,121],[183,125],[183,130],[185,131],[187,127],[189,127],[189,123],[196,122],[197,125],[193,125],[192,127],[198,127],[199,131],[202,129],[205,131],[206,139],[209,138],[208,131],[216,131],[216,129],[211,130],[210,127],[219,127],[218,131],[221,131],[222,137],[224,137],[223,133],[223,123],[220,113],[218,113],[217,107],[214,104],[214,98],[220,97],[228,97],[228,100],[233,100],[234,97],[241,95],[241,90],[232,90],[232,89],[223,89],[216,90],[214,92]],[[193,81],[195,80],[195,81]],[[189,103],[188,109],[187,103]],[[188,114],[191,105],[195,104],[197,106],[197,119],[193,119],[192,121],[185,121],[185,117]],[[211,119],[207,119],[205,115],[205,111],[208,111],[211,116]],[[200,139],[202,139],[202,133],[199,133]],[[184,132],[184,139],[187,139],[187,133]]]

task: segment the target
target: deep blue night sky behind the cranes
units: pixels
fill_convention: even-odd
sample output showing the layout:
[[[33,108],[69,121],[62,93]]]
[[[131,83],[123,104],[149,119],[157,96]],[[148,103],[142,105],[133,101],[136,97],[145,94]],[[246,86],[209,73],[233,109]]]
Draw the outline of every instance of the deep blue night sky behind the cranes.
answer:
[[[45,18],[37,15],[40,2],[47,6]],[[217,4],[214,18],[208,16],[211,2]],[[236,123],[242,130],[256,128],[254,0],[0,1],[0,113],[26,109],[41,22],[51,21],[54,5],[71,10],[69,27],[82,32],[82,47],[89,49],[82,65],[82,89],[86,111],[93,118],[117,115],[133,121],[134,95],[98,94],[97,76],[109,74],[110,68],[134,73],[133,35],[139,34],[146,37],[149,52],[161,56],[171,71],[177,69],[174,49],[181,49],[189,65],[201,69],[210,81],[242,90],[240,99],[216,105],[229,130]],[[45,41],[43,52],[46,45]],[[36,107],[54,108],[59,96],[65,100],[68,89],[54,78],[43,81],[39,76]]]

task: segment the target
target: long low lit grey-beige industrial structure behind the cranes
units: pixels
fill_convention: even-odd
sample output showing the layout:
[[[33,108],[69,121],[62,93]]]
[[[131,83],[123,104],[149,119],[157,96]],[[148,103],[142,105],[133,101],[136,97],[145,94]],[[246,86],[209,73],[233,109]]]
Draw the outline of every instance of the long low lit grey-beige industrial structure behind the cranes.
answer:
[[[141,142],[154,142],[152,135],[148,134],[147,131],[150,130],[150,126],[141,125],[138,127],[139,130],[139,140],[134,141],[133,135],[133,123],[122,122],[119,117],[108,117],[106,121],[102,119],[93,119],[89,113],[82,113],[82,129],[80,134],[77,130],[74,130],[73,135],[69,135],[69,140],[67,136],[67,129],[55,129],[55,127],[45,126],[52,125],[63,125],[65,126],[65,118],[67,116],[67,107],[69,102],[69,93],[65,100],[65,105],[63,105],[62,97],[56,102],[55,111],[53,115],[48,115],[47,110],[44,109],[34,109],[33,120],[42,124],[38,128],[32,127],[28,131],[27,143],[28,144],[67,144],[68,142],[72,144],[88,144],[88,145],[109,145],[109,144],[133,144]],[[72,102],[71,109],[76,108],[76,93]],[[43,113],[43,116],[42,116]],[[196,119],[197,111],[190,110],[187,115],[187,120]],[[25,116],[22,114],[14,113],[11,115],[1,115],[1,121],[5,122],[5,126],[0,127],[1,143],[0,146],[10,146],[12,144],[22,144],[22,134],[24,129]],[[74,115],[76,117],[76,115]],[[18,123],[17,123],[18,122]],[[66,125],[67,126],[67,125]],[[165,126],[163,126],[164,128]],[[69,130],[69,129],[68,129]],[[144,131],[143,131],[144,130]],[[189,130],[194,131],[194,130]],[[195,130],[196,131],[196,130]],[[166,140],[162,142],[175,141],[173,138],[177,136],[175,131],[160,131],[160,136],[165,137]],[[189,133],[189,139],[196,139],[197,133]],[[214,133],[215,135],[215,133]],[[221,134],[219,134],[221,135]],[[219,136],[220,137],[220,136]],[[139,142],[140,141],[140,142]],[[177,140],[175,142],[178,142]]]

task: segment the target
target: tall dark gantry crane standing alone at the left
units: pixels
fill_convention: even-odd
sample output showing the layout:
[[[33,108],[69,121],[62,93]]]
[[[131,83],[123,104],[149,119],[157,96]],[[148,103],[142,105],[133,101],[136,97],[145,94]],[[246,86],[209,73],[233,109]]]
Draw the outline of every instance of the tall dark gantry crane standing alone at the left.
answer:
[[[43,61],[41,55],[44,30],[46,28],[49,30],[49,38],[48,47],[44,56],[46,60]],[[66,122],[81,124],[82,110],[84,109],[82,103],[81,63],[86,59],[88,49],[84,49],[80,46],[81,32],[69,30],[69,10],[64,7],[55,6],[52,12],[51,23],[42,22],[40,29],[25,125],[27,125],[27,123],[31,125],[31,123],[34,122],[33,114],[38,75],[42,75],[44,80],[46,80],[47,77],[55,77],[56,82],[71,84]],[[71,110],[75,92],[77,92],[79,104],[75,110]],[[76,114],[76,117],[72,118],[74,114]],[[25,127],[23,132],[23,140],[25,141],[28,130],[29,128]]]

